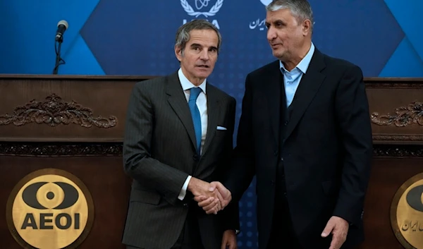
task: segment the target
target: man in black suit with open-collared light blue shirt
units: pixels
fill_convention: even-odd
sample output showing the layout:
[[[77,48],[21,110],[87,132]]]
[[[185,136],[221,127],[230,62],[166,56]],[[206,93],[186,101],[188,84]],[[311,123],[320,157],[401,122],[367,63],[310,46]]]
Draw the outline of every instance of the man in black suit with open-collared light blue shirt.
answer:
[[[266,11],[278,60],[247,75],[223,185],[239,200],[257,177],[259,248],[350,248],[364,239],[372,157],[362,71],[314,47],[306,0],[276,0]]]

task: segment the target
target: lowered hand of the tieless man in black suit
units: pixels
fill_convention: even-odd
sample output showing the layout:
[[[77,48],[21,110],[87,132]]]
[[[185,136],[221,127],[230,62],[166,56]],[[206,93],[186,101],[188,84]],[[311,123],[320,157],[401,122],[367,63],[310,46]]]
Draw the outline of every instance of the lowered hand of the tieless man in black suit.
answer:
[[[329,219],[321,236],[326,238],[332,233],[332,242],[329,249],[339,249],[347,239],[349,224],[341,217],[333,216]]]

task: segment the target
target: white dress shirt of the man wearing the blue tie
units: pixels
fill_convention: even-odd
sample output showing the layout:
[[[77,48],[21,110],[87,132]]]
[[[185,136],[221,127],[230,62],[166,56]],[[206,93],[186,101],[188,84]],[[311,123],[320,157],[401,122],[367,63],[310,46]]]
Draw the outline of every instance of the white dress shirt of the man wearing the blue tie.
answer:
[[[185,77],[185,75],[182,72],[182,69],[179,68],[178,70],[178,76],[180,85],[182,86],[183,92],[185,94],[185,97],[187,99],[187,102],[190,99],[190,89],[192,87],[196,87],[194,84],[188,80],[188,78]],[[204,146],[204,141],[206,140],[207,135],[207,97],[206,97],[206,83],[207,80],[204,79],[204,81],[199,85],[198,87],[201,88],[202,92],[200,92],[200,95],[197,97],[197,107],[198,111],[200,111],[201,116],[201,148],[200,153],[202,153],[202,148]],[[188,176],[188,178],[185,180],[185,183],[183,184],[182,189],[180,190],[180,193],[178,195],[179,200],[183,200],[185,198],[185,195],[187,193],[188,183],[190,183],[191,176]]]

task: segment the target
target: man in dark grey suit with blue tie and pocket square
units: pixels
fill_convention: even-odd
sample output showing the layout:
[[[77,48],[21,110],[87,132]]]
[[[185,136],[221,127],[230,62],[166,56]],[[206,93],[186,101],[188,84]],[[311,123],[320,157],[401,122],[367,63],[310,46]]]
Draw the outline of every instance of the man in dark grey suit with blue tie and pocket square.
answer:
[[[176,34],[180,69],[133,88],[123,142],[125,173],[133,178],[127,248],[236,248],[238,204],[220,211],[224,200],[209,190],[233,152],[235,99],[206,82],[220,47],[214,25],[185,23]],[[210,212],[193,200],[198,195],[209,198]]]

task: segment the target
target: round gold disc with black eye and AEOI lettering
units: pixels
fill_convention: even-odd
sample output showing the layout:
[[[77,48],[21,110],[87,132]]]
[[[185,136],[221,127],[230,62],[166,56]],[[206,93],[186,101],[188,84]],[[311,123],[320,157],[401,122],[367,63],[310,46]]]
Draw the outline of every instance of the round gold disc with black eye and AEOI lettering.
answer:
[[[24,248],[76,248],[94,221],[87,187],[59,169],[42,169],[25,176],[7,203],[8,228]]]

